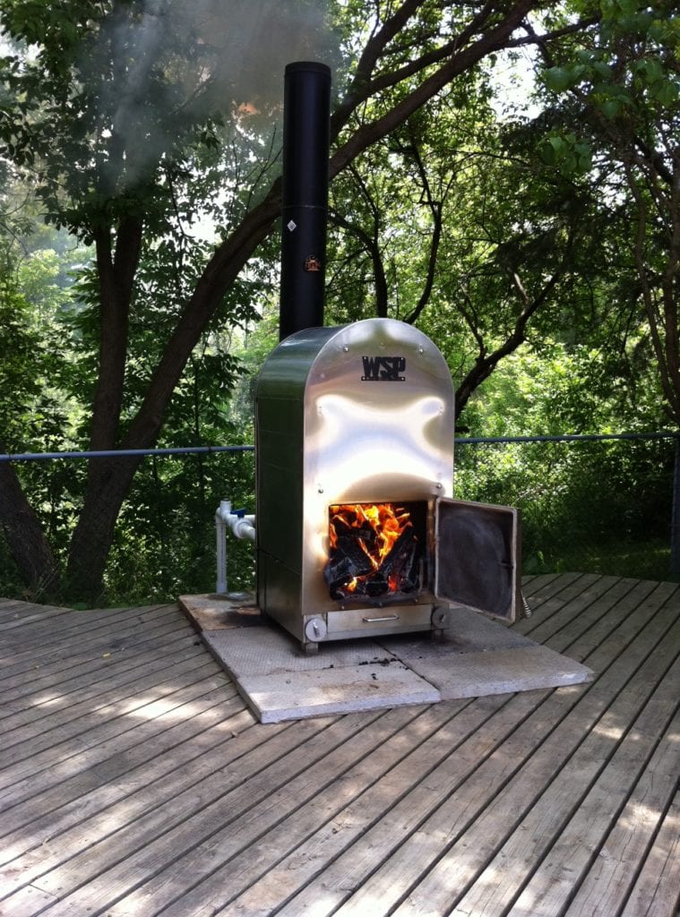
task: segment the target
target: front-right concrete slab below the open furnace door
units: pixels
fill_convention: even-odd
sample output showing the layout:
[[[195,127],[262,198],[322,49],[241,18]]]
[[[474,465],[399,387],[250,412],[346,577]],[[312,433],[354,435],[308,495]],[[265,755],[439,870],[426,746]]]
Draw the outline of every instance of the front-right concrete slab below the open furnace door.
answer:
[[[590,668],[539,644],[450,657],[409,657],[407,665],[439,689],[442,701],[562,688],[595,678]]]

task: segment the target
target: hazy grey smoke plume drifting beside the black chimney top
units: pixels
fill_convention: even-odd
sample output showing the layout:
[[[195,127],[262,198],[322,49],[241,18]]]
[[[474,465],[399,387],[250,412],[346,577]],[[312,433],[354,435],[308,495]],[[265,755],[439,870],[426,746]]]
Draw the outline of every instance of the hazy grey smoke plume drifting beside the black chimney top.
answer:
[[[85,75],[99,94],[108,177],[144,177],[196,122],[250,116],[273,130],[289,61],[337,62],[328,0],[132,0],[105,19]],[[105,169],[106,171],[106,169]]]

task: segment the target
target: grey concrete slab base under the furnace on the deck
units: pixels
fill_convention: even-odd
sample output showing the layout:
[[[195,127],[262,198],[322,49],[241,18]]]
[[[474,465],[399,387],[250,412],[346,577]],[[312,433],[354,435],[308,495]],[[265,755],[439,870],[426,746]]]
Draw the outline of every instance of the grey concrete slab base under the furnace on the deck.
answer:
[[[443,639],[385,635],[319,645],[305,656],[245,596],[183,596],[180,605],[262,723],[581,684],[591,669],[456,608]]]

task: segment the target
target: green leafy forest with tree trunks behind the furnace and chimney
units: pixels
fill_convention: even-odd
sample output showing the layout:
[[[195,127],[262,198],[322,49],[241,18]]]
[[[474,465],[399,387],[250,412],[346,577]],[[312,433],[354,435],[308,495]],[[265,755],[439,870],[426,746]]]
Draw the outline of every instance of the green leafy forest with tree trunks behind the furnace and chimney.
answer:
[[[294,60],[333,72],[327,324],[429,335],[459,437],[677,431],[673,2],[0,0],[0,24],[0,452],[252,442]],[[456,451],[457,496],[521,506],[528,571],[663,579],[673,474],[672,436]],[[0,592],[210,591],[222,498],[252,509],[250,453],[0,461]]]

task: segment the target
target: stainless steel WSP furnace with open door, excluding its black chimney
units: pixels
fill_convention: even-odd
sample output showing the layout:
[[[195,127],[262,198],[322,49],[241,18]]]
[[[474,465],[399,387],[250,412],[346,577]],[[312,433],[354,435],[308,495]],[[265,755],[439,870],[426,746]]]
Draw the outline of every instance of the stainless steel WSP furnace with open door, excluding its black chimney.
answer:
[[[440,630],[449,603],[512,621],[518,511],[451,499],[451,372],[392,319],[284,339],[256,392],[257,602],[307,651]]]

